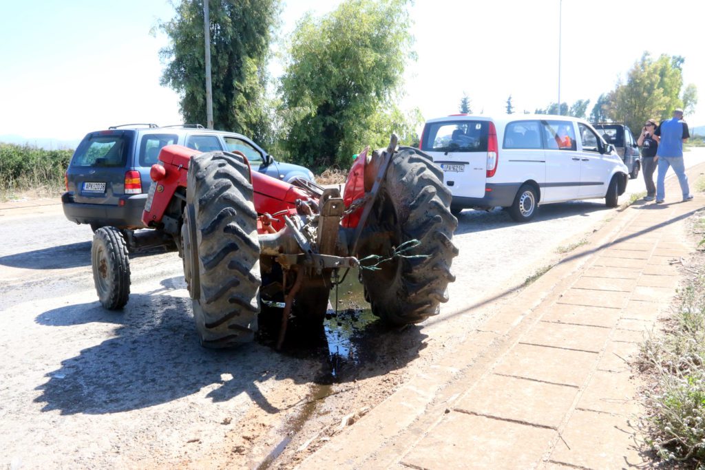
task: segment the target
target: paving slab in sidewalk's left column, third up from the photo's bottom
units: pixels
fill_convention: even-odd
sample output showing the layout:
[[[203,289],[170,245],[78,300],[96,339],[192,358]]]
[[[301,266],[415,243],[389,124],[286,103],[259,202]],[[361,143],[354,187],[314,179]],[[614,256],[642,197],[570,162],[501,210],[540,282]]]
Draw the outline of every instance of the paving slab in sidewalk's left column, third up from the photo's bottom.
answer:
[[[598,359],[593,352],[520,344],[505,354],[494,372],[578,387]]]

